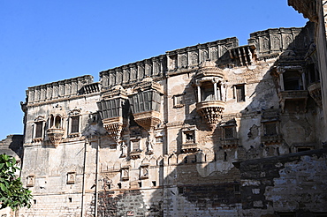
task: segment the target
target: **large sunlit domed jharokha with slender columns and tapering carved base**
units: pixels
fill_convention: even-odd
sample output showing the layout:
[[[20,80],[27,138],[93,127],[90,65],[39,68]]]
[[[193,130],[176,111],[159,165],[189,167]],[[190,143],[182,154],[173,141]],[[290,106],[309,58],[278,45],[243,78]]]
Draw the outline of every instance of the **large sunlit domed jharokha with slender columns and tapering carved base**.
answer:
[[[194,78],[197,89],[196,111],[213,131],[222,118],[225,105],[224,73],[214,62],[206,61]]]

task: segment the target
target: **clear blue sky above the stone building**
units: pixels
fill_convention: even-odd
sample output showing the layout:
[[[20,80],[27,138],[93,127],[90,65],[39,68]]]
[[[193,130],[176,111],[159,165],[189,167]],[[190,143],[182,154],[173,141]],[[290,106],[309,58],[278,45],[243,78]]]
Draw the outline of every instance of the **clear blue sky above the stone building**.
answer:
[[[287,0],[0,0],[0,139],[23,132],[28,86],[99,72],[197,43],[304,26]]]

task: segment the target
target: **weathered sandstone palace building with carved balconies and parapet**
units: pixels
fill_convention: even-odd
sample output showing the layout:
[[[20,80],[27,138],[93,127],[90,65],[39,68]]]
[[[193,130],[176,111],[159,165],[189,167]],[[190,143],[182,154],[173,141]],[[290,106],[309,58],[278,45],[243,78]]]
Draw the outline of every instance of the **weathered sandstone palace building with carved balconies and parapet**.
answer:
[[[34,199],[16,214],[327,216],[323,2],[289,0],[312,22],[244,46],[28,87],[21,177]]]

